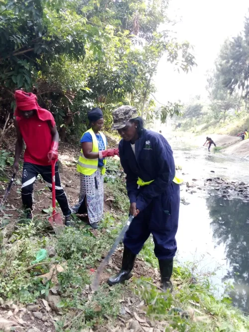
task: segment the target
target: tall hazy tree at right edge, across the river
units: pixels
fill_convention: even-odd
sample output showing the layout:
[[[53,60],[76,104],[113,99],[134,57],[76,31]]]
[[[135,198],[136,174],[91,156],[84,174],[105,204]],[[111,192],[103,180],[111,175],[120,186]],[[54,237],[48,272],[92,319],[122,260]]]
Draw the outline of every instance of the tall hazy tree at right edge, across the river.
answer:
[[[249,99],[249,16],[245,17],[244,31],[226,40],[216,60],[216,69],[209,77],[211,109],[225,113],[229,109],[245,109]]]

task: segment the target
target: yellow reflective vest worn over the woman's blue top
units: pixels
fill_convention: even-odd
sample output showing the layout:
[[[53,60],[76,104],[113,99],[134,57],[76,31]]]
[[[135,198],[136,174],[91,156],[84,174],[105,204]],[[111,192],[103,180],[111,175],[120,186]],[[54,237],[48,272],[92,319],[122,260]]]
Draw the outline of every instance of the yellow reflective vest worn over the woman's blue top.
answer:
[[[91,129],[87,130],[86,132],[90,132],[90,134],[92,136],[92,139],[93,139],[93,150],[92,150],[92,152],[99,152],[98,140],[97,140],[97,137],[96,137],[93,129],[91,128]],[[103,142],[105,144],[105,149],[106,149],[107,148],[106,136],[101,131],[99,133],[100,133],[100,135],[103,139]],[[85,132],[84,132],[84,134],[85,134]],[[107,164],[106,159],[104,159],[103,161],[104,161],[104,166],[102,167],[102,171],[101,171],[102,175],[104,175],[106,173],[106,164]],[[79,157],[78,164],[77,164],[77,171],[84,174],[84,175],[92,175],[97,171],[98,163],[99,163],[99,158],[88,159],[84,156],[83,151],[81,149],[80,157]]]

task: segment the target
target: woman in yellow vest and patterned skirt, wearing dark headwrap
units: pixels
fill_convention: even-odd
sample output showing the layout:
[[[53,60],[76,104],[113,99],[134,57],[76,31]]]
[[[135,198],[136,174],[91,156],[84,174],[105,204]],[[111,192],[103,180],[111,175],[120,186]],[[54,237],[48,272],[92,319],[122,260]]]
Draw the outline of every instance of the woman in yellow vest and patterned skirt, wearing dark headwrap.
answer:
[[[107,150],[107,138],[101,131],[104,125],[103,112],[94,108],[87,117],[91,128],[81,137],[81,152],[77,165],[80,173],[79,203],[72,211],[87,214],[92,228],[98,228],[104,209],[104,174],[106,173],[107,157],[119,155],[119,149]]]

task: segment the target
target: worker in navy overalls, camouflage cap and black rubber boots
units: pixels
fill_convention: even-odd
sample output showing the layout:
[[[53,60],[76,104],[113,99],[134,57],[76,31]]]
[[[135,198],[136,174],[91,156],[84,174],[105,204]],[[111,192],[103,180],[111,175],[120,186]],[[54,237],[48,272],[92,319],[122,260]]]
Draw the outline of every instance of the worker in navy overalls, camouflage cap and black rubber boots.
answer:
[[[114,285],[131,277],[136,255],[152,233],[162,287],[172,290],[180,205],[173,152],[161,134],[143,128],[143,120],[132,106],[121,106],[113,118],[113,129],[123,138],[119,154],[126,174],[129,212],[135,218],[124,236],[121,270],[108,283]]]

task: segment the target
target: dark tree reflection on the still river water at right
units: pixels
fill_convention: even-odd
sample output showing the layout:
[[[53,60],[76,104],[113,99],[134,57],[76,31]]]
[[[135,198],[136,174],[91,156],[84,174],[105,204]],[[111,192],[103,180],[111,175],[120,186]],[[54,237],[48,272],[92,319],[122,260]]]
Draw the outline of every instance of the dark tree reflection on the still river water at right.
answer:
[[[225,281],[232,281],[230,296],[236,306],[249,312],[249,203],[208,197],[207,208],[217,245],[225,244],[229,260]]]

